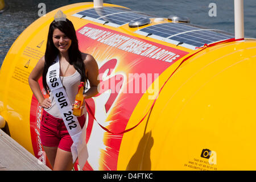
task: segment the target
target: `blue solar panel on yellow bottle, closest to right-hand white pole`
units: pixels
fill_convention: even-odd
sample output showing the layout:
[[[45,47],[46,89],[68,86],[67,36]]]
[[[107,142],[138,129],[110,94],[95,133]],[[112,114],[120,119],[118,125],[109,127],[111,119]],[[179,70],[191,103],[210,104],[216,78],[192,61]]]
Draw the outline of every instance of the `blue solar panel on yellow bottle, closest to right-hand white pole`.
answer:
[[[137,34],[150,36],[190,49],[202,47],[221,40],[234,38],[234,35],[220,30],[204,29],[188,23],[163,23],[136,31]]]

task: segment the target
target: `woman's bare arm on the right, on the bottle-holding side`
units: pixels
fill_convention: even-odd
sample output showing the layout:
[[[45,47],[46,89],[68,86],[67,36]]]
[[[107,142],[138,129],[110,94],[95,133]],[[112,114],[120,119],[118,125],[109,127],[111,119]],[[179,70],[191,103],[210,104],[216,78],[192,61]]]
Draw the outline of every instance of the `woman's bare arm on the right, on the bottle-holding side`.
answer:
[[[98,64],[92,55],[86,55],[84,65],[90,83],[90,89],[84,94],[84,98],[86,99],[98,94],[98,84],[100,84],[100,80],[98,80]]]

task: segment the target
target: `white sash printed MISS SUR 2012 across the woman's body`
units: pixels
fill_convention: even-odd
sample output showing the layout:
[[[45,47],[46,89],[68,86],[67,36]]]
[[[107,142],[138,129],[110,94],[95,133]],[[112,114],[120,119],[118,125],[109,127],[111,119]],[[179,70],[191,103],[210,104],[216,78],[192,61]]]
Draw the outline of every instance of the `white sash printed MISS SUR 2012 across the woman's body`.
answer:
[[[51,89],[52,96],[60,110],[61,118],[63,118],[68,133],[73,140],[71,146],[73,163],[76,162],[78,157],[79,166],[82,169],[88,159],[88,150],[85,142],[86,126],[84,125],[81,129],[77,117],[72,114],[71,102],[69,102],[67,93],[60,80],[59,56],[56,57],[53,64],[49,67],[46,77],[49,89]]]

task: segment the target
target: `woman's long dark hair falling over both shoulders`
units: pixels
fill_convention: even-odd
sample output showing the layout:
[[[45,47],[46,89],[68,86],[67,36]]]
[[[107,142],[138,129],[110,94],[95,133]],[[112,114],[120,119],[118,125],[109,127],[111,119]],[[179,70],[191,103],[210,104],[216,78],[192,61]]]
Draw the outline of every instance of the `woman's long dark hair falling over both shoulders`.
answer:
[[[76,37],[76,31],[72,24],[72,22],[68,19],[66,21],[57,21],[53,20],[53,22],[49,26],[48,38],[47,38],[47,46],[46,53],[44,55],[44,70],[43,70],[43,87],[46,90],[46,93],[49,94],[49,87],[46,82],[46,74],[48,72],[48,68],[52,65],[53,61],[56,59],[56,56],[59,53],[59,50],[54,46],[52,35],[53,31],[58,28],[61,32],[68,36],[71,39],[71,46],[68,49],[68,57],[69,63],[73,65],[73,67],[77,70],[77,72],[81,75],[81,81],[87,81],[85,76],[84,69],[84,61],[82,60],[81,52],[79,51],[78,40]]]

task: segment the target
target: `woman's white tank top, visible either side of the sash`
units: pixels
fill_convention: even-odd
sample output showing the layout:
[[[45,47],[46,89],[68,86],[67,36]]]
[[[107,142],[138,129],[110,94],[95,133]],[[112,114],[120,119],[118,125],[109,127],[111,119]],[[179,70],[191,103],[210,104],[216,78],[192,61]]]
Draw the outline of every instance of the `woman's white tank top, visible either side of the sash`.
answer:
[[[60,76],[60,79],[62,80],[62,76]],[[65,86],[65,90],[68,95],[68,99],[73,104],[75,102],[75,97],[80,85],[81,75],[79,72],[76,72],[71,76],[64,76],[63,78],[63,86]],[[44,109],[47,111],[47,113],[53,115],[53,117],[61,118],[59,108],[56,105],[55,99],[52,97],[52,92],[49,93],[49,98],[52,102],[52,106],[48,109]],[[86,107],[85,107],[86,108]]]

